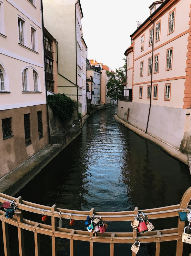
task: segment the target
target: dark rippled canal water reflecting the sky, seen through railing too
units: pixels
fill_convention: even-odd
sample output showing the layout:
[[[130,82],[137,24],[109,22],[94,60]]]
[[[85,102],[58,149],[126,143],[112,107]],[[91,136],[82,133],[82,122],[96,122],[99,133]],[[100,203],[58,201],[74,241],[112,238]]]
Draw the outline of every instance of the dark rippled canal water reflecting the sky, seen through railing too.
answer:
[[[89,117],[82,134],[54,158],[17,196],[59,208],[95,211],[129,211],[179,204],[191,186],[188,166],[113,120],[117,108]],[[24,218],[41,221],[40,215]],[[152,220],[156,229],[177,227],[178,218]],[[50,220],[47,221],[50,224]],[[68,220],[63,226],[71,228]],[[86,230],[83,222],[74,229]],[[129,222],[110,222],[108,232],[131,232]],[[12,254],[18,255],[12,228]],[[34,255],[34,237],[25,232],[27,256]],[[59,239],[58,255],[70,255],[69,240]],[[115,255],[131,255],[131,245],[115,245]],[[14,248],[14,249],[13,249]],[[109,244],[96,243],[94,255],[109,256]],[[155,255],[155,244],[142,244],[138,255]],[[184,248],[188,255],[188,246]],[[41,256],[51,255],[51,238],[41,236]],[[89,255],[89,242],[76,242],[76,255]],[[161,256],[175,255],[175,242],[161,243]]]

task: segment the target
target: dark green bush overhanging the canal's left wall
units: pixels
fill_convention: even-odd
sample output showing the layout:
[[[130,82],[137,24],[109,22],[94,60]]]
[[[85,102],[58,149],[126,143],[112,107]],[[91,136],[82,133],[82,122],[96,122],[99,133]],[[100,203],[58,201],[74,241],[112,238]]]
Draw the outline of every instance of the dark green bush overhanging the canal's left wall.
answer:
[[[77,101],[72,100],[65,94],[48,95],[48,104],[54,114],[60,116],[64,122],[72,120]]]

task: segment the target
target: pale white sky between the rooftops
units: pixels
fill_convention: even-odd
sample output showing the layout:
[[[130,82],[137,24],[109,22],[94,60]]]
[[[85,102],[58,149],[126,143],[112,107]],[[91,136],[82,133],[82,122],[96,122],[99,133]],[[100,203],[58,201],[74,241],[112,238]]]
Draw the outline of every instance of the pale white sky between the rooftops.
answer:
[[[125,50],[131,45],[130,35],[137,22],[150,16],[154,0],[80,0],[83,38],[88,46],[88,59],[96,57],[112,70],[122,67]]]

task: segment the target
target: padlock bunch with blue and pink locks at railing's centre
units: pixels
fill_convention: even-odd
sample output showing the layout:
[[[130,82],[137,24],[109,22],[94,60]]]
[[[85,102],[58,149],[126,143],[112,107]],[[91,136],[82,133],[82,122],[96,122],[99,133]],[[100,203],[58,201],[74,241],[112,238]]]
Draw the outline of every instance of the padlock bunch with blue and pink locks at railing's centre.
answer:
[[[93,234],[95,234],[95,237],[97,238],[97,232],[99,231],[100,233],[104,233],[107,231],[107,227],[108,225],[106,223],[103,223],[101,221],[101,215],[100,218],[96,218],[94,217],[94,214],[92,216],[92,218],[90,218],[90,216],[87,216],[87,219],[84,221],[87,230]]]

